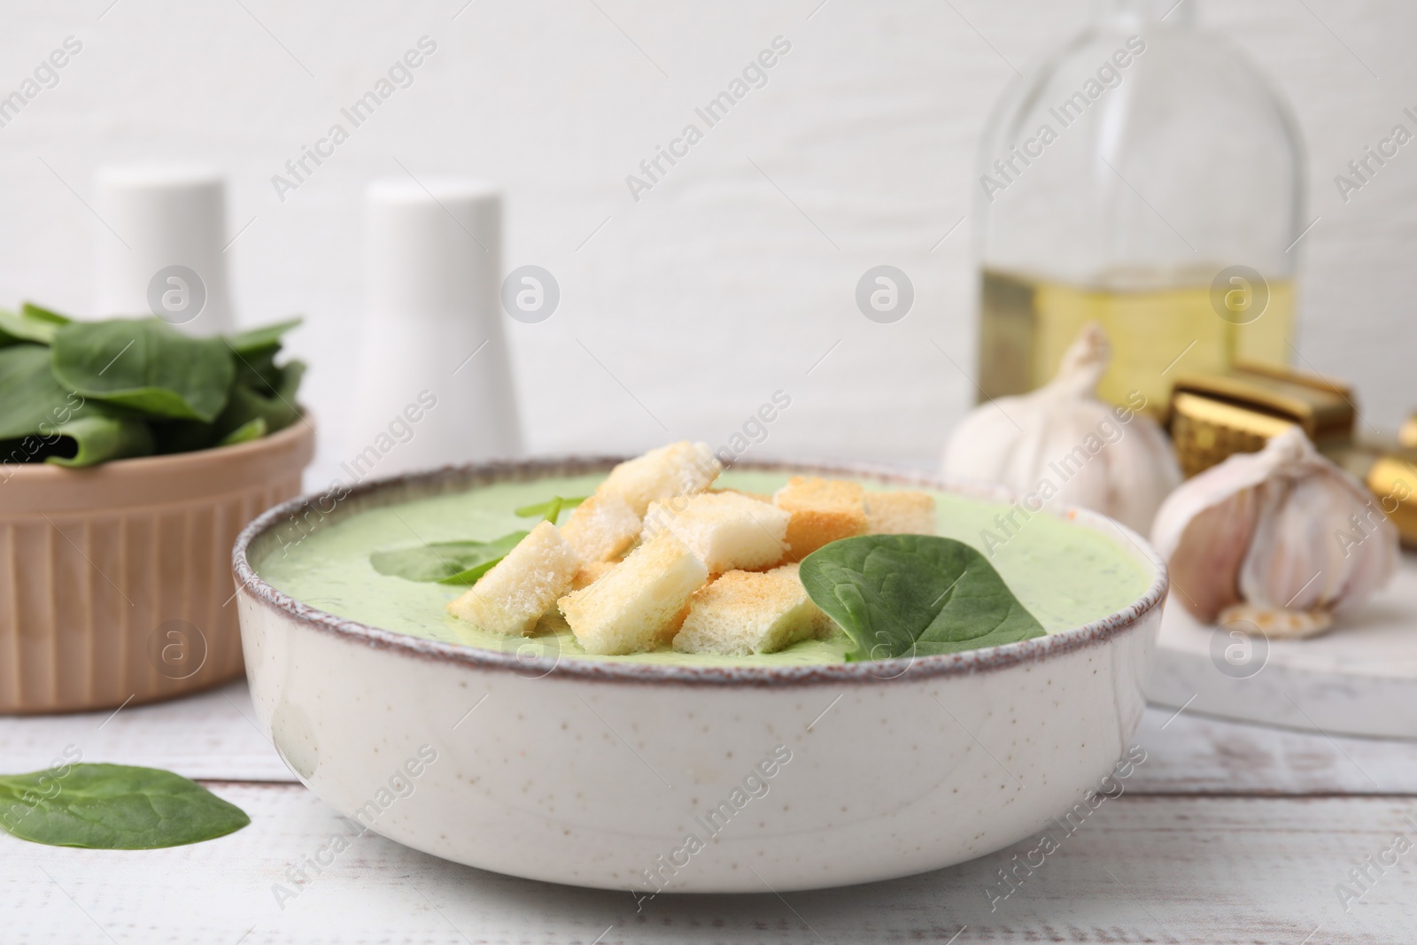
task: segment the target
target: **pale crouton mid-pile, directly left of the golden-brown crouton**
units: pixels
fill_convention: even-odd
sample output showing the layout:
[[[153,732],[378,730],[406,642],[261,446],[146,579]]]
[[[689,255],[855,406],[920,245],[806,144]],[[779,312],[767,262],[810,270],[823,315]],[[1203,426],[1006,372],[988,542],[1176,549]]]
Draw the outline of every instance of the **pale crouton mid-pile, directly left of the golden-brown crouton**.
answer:
[[[777,506],[731,492],[659,499],[645,513],[645,536],[669,530],[708,574],[768,568],[788,551],[788,520]]]

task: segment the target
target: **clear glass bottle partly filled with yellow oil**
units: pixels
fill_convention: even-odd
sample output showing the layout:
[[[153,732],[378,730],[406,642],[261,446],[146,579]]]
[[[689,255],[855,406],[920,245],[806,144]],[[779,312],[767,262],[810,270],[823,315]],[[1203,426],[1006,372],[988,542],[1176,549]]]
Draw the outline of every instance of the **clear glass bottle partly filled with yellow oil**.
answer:
[[[1088,322],[1102,397],[1166,411],[1173,381],[1287,366],[1308,218],[1294,120],[1202,0],[1097,0],[1003,95],[973,214],[985,397],[1047,383]]]

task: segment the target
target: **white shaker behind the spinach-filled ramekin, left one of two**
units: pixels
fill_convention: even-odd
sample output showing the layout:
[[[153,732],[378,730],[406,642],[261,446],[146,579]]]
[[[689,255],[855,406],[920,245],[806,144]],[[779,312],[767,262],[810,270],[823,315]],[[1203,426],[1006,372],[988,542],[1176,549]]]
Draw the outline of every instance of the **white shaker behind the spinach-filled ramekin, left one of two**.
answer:
[[[98,315],[156,315],[190,334],[232,332],[221,174],[103,167],[96,184]]]

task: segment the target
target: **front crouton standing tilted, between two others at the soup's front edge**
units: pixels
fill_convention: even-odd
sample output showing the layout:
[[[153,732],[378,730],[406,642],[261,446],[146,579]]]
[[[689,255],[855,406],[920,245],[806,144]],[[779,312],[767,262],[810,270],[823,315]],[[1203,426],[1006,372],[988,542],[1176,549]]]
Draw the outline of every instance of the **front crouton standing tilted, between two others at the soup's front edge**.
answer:
[[[662,531],[595,584],[561,598],[561,613],[587,653],[640,653],[662,642],[707,578],[703,561]]]

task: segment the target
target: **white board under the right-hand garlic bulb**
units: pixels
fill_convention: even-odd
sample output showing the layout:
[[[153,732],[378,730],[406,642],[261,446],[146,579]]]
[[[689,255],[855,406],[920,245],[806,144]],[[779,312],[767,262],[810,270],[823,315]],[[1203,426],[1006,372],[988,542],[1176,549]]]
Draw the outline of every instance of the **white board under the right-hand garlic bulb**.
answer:
[[[1271,725],[1417,738],[1417,555],[1404,554],[1360,612],[1309,640],[1247,643],[1197,623],[1173,596],[1148,696]]]

